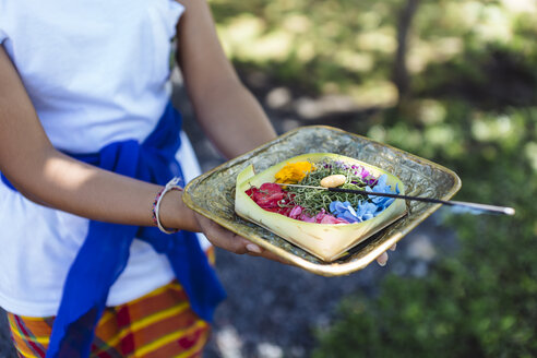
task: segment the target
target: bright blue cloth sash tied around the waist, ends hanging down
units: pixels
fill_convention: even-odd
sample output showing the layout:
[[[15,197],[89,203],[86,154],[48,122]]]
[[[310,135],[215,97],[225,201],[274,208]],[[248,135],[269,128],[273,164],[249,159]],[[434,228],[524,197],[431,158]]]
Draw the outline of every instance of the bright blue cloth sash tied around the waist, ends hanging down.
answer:
[[[72,156],[103,169],[165,184],[172,177],[182,178],[175,159],[181,145],[180,130],[181,116],[168,105],[157,127],[142,144],[129,140],[111,143],[96,154]],[[2,180],[13,188],[5,177],[2,176]],[[63,286],[47,358],[90,356],[108,291],[127,265],[134,237],[167,255],[192,310],[203,320],[212,321],[214,309],[226,294],[193,232],[181,230],[166,235],[155,227],[91,220],[87,237]]]

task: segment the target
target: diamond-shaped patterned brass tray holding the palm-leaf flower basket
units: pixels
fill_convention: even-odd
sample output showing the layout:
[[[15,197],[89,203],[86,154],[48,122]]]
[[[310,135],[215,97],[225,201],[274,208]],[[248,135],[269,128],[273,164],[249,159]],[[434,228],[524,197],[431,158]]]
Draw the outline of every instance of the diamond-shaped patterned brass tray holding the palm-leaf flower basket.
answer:
[[[347,275],[366,267],[440,207],[440,204],[407,201],[407,215],[334,262],[324,262],[235,213],[236,180],[246,167],[253,165],[261,172],[287,158],[323,152],[356,158],[391,172],[404,182],[408,195],[449,200],[461,188],[456,174],[435,163],[339,129],[311,126],[285,133],[193,179],[184,188],[183,201],[223,227],[296,266],[323,276]]]

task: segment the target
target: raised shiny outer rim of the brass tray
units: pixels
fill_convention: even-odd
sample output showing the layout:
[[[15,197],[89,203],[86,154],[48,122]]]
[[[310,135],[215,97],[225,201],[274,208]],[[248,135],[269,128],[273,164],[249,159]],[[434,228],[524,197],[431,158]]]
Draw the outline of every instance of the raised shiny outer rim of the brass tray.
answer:
[[[334,128],[334,127],[330,127],[330,126],[301,126],[299,128],[296,128],[294,130],[290,130],[286,133],[283,133],[281,135],[278,135],[277,138],[275,138],[274,140],[267,142],[267,143],[264,143],[236,158],[232,158],[230,160],[227,160],[218,166],[216,166],[215,168],[206,171],[205,174],[202,174],[201,176],[194,178],[193,180],[191,180],[186,187],[184,187],[184,191],[183,191],[183,195],[182,195],[182,201],[184,202],[184,204],[190,207],[191,210],[193,210],[194,212],[210,218],[211,220],[217,223],[218,225],[225,227],[226,229],[237,234],[237,235],[240,235],[241,236],[241,231],[240,230],[237,230],[236,227],[231,226],[228,224],[227,220],[225,219],[222,219],[220,217],[217,217],[217,216],[214,216],[212,215],[212,213],[207,210],[205,210],[204,207],[201,207],[199,206],[192,199],[191,194],[190,194],[190,189],[198,182],[198,181],[202,181],[202,180],[205,180],[206,178],[208,178],[210,176],[214,175],[215,172],[217,171],[220,171],[222,168],[226,167],[226,166],[234,166],[236,165],[237,163],[240,163],[242,160],[246,160],[244,157],[248,157],[250,156],[252,153],[254,152],[259,152],[259,151],[262,151],[263,148],[267,148],[272,145],[275,145],[277,142],[281,142],[283,141],[284,139],[288,138],[288,136],[291,136],[294,135],[296,132],[298,131],[301,131],[301,130],[305,130],[305,129],[325,129],[325,130],[329,130],[329,131],[335,131],[335,132],[339,132],[341,134],[346,134],[346,135],[350,135],[350,136],[354,136],[354,138],[358,138],[358,139],[361,139],[361,140],[365,140],[366,142],[370,142],[370,143],[374,143],[374,144],[378,144],[378,145],[381,145],[381,146],[384,146],[384,147],[387,147],[394,152],[397,152],[399,154],[403,154],[405,157],[407,158],[410,158],[413,162],[416,162],[416,163],[420,163],[420,164],[426,164],[428,166],[431,166],[438,170],[441,170],[443,171],[444,174],[449,175],[452,179],[453,179],[453,186],[450,188],[450,190],[448,190],[448,192],[441,196],[440,199],[441,200],[450,200],[451,198],[453,198],[453,195],[455,195],[455,193],[461,189],[462,187],[462,181],[461,181],[461,178],[451,169],[442,166],[442,165],[439,165],[432,160],[429,160],[429,159],[426,159],[426,158],[422,158],[422,157],[419,157],[417,155],[414,155],[411,153],[408,153],[406,151],[403,151],[403,150],[399,150],[397,147],[394,147],[390,144],[385,144],[385,143],[381,143],[381,142],[378,142],[378,141],[374,141],[372,139],[369,139],[367,136],[363,136],[363,135],[360,135],[360,134],[356,134],[356,133],[351,133],[351,132],[348,132],[348,131],[345,131],[345,130],[342,130],[342,129],[338,129],[338,128]],[[260,247],[262,247],[263,249],[267,250],[267,251],[271,251],[273,252],[274,254],[278,255],[279,258],[284,259],[285,261],[287,261],[289,264],[291,265],[296,265],[298,267],[301,267],[306,271],[309,271],[311,273],[314,273],[314,274],[318,274],[318,275],[321,275],[321,276],[341,276],[341,275],[348,275],[353,272],[356,272],[356,271],[359,271],[359,270],[362,270],[365,268],[367,265],[369,265],[372,261],[374,261],[377,259],[377,256],[379,256],[382,252],[386,251],[387,249],[390,249],[394,243],[396,243],[397,241],[399,241],[403,237],[405,237],[408,232],[410,232],[411,230],[414,230],[419,224],[421,224],[427,217],[429,217],[433,212],[435,212],[438,208],[440,208],[442,206],[442,204],[431,204],[428,208],[426,208],[419,216],[416,217],[416,219],[414,219],[413,222],[410,222],[409,225],[403,227],[398,232],[396,232],[395,235],[392,235],[391,237],[389,237],[384,242],[382,242],[381,244],[379,244],[378,247],[375,247],[373,250],[371,250],[367,255],[362,256],[362,258],[359,258],[357,260],[353,260],[350,262],[346,262],[346,263],[337,263],[337,262],[332,262],[332,263],[324,263],[324,264],[321,264],[321,263],[313,263],[313,262],[310,262],[308,260],[305,260],[300,256],[297,256],[296,254],[291,253],[291,252],[288,252],[282,248],[278,248],[276,246],[273,246],[271,242],[268,242],[267,240],[259,237],[258,235],[255,236],[251,236],[251,237],[248,237],[246,239],[259,244]],[[407,212],[406,215],[409,215],[410,212]],[[263,228],[265,229],[265,228]],[[265,229],[266,230],[266,229]],[[287,241],[288,242],[288,241]]]

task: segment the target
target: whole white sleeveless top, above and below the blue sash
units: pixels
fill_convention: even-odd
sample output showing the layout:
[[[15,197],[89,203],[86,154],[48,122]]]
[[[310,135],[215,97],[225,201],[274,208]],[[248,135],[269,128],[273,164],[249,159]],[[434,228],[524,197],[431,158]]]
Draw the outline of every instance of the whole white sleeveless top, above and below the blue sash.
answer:
[[[56,147],[94,153],[152,132],[169,100],[171,38],[182,11],[172,0],[0,0],[0,43]],[[200,169],[182,139],[178,158],[188,181]],[[87,219],[34,204],[0,182],[0,306],[55,315],[87,227]],[[164,255],[134,240],[107,305],[172,277]]]

